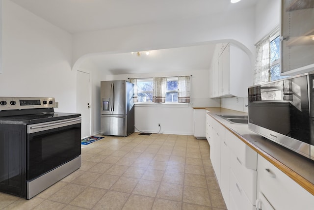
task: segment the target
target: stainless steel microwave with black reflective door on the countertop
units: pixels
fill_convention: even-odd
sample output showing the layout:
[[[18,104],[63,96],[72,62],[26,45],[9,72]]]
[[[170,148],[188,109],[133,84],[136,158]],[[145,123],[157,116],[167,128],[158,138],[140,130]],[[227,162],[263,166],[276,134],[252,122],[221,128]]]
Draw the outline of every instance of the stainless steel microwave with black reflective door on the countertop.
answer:
[[[249,129],[314,160],[314,72],[249,87]]]

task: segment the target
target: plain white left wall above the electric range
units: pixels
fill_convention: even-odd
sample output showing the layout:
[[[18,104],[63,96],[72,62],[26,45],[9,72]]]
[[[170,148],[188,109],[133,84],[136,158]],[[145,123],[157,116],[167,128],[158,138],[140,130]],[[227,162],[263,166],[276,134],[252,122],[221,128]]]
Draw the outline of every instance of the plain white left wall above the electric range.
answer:
[[[10,0],[2,6],[0,96],[55,97],[56,112],[76,112],[71,34]]]

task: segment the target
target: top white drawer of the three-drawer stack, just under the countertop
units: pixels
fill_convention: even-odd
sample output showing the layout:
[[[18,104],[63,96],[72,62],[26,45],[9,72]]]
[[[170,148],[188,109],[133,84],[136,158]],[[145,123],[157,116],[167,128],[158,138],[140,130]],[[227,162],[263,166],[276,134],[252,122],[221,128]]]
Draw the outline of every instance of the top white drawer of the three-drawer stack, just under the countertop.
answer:
[[[235,154],[241,164],[247,168],[257,169],[257,152],[249,148],[244,142],[237,138],[230,131],[225,132],[225,139],[229,145],[230,150]]]

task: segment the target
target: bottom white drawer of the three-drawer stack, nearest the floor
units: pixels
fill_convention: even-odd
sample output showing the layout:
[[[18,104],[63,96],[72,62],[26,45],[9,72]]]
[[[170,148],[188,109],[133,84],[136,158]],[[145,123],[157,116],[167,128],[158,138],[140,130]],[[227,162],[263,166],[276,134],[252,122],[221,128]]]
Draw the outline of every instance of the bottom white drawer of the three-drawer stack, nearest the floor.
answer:
[[[232,170],[230,170],[230,209],[234,210],[255,210],[255,206],[251,204],[243,191],[241,184],[235,178]],[[234,206],[233,206],[234,205]]]

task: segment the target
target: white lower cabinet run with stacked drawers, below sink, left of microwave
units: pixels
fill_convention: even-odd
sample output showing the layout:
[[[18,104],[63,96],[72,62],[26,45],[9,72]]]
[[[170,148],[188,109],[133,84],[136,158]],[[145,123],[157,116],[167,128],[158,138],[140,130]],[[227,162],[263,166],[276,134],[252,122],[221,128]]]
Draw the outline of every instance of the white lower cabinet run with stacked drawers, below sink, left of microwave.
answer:
[[[227,208],[254,209],[257,153],[208,114],[206,126],[210,160]]]

